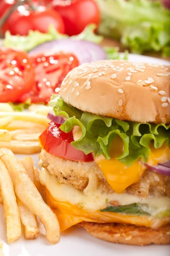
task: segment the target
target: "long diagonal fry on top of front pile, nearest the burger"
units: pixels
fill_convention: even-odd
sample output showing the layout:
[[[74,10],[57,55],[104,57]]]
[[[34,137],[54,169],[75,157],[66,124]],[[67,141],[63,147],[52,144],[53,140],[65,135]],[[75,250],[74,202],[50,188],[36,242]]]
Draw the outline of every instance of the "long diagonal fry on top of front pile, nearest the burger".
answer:
[[[34,215],[40,218],[45,227],[48,241],[51,244],[56,244],[60,239],[60,228],[56,215],[42,200],[40,193],[28,177],[20,160],[12,155],[3,155],[0,158],[8,169],[17,197]]]

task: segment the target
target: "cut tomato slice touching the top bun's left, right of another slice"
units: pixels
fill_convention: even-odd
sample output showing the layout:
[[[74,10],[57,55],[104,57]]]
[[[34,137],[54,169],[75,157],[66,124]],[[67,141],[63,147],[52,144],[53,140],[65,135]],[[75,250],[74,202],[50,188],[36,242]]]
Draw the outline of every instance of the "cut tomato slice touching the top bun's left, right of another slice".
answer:
[[[38,54],[30,58],[35,71],[35,86],[21,101],[48,102],[52,93],[57,93],[62,80],[74,67],[79,66],[76,56],[71,53]]]

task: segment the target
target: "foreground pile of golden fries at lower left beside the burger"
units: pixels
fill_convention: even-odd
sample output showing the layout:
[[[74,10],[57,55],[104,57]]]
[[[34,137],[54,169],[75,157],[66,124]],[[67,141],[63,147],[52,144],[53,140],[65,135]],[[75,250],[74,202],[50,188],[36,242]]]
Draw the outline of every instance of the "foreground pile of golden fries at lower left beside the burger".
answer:
[[[57,217],[34,185],[36,172],[31,157],[19,160],[10,149],[0,148],[0,202],[4,208],[8,242],[21,236],[21,223],[24,237],[36,239],[39,235],[37,217],[44,225],[51,244],[56,244],[60,239]]]

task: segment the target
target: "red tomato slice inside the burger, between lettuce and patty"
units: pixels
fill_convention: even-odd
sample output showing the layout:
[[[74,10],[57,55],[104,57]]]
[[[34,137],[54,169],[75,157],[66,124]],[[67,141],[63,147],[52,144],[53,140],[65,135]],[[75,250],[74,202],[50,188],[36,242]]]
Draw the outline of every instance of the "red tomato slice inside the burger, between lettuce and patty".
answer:
[[[48,128],[40,135],[39,141],[42,148],[49,154],[69,160],[91,162],[92,154],[77,150],[71,145],[74,141],[72,131],[65,133],[59,129],[60,124],[49,123]]]

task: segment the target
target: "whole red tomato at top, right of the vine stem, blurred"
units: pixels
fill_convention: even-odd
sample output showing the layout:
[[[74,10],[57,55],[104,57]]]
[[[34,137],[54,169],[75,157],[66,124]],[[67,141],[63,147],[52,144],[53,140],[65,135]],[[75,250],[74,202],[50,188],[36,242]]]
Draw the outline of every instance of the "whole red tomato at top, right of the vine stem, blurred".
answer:
[[[94,0],[54,0],[53,9],[62,16],[65,33],[70,36],[81,33],[89,23],[98,26],[100,22],[99,8]]]

